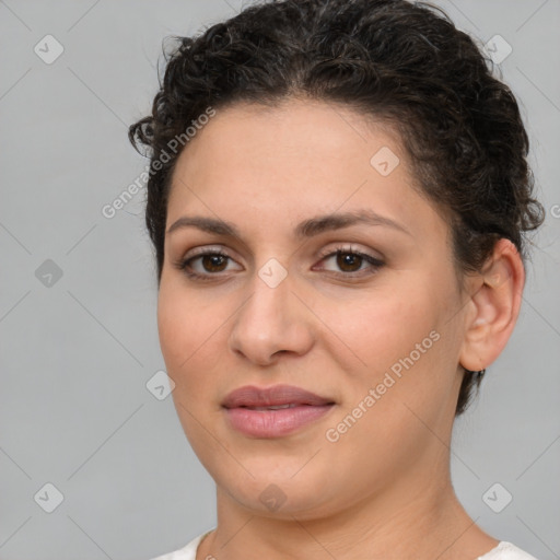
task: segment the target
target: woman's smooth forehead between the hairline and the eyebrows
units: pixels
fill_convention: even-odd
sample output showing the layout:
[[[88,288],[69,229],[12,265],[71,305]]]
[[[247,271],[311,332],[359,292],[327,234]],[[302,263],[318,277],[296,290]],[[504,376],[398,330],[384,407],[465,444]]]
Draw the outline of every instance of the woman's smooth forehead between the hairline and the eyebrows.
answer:
[[[217,109],[180,154],[167,224],[189,210],[242,223],[257,214],[272,226],[287,217],[370,209],[422,230],[438,212],[417,188],[398,135],[351,108],[240,104]]]

